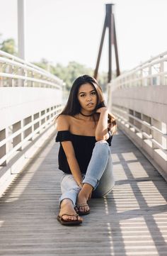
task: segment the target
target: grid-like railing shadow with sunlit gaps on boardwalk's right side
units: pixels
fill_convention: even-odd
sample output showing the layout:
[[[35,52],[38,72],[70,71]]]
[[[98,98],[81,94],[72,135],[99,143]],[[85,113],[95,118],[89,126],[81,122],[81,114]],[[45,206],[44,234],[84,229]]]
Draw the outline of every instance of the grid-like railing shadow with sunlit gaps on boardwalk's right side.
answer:
[[[149,250],[146,243],[152,246],[150,255],[151,252],[165,255],[167,245],[162,224],[166,217],[162,218],[162,223],[159,223],[159,218],[167,212],[166,181],[125,135],[119,134],[117,141],[113,140],[111,149],[112,155],[115,155],[113,165],[117,180],[113,192],[104,199],[108,212],[105,225],[110,234],[111,255],[131,255],[130,249],[125,248],[136,245],[134,250],[137,250],[139,244],[140,252],[143,250],[144,253]],[[149,239],[147,242],[144,236],[145,240]]]

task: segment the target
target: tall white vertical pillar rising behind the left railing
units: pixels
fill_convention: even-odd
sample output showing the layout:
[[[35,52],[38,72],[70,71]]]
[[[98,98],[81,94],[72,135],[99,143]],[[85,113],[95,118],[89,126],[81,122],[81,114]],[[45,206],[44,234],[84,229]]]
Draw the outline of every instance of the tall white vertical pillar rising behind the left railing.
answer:
[[[25,0],[18,0],[18,57],[25,60]]]

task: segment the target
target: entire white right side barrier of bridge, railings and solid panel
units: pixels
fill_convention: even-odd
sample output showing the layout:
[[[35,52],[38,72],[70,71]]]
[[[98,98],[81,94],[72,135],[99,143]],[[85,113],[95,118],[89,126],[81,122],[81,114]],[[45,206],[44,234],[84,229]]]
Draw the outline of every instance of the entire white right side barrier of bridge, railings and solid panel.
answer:
[[[108,84],[117,124],[167,179],[167,52]]]

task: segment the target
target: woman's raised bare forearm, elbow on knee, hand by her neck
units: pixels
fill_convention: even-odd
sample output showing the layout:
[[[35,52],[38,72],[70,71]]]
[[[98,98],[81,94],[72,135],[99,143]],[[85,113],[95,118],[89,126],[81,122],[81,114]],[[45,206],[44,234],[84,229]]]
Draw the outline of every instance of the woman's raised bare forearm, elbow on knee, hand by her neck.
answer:
[[[95,132],[96,140],[108,140],[108,109],[106,107],[102,107],[98,108],[96,112],[100,113]]]

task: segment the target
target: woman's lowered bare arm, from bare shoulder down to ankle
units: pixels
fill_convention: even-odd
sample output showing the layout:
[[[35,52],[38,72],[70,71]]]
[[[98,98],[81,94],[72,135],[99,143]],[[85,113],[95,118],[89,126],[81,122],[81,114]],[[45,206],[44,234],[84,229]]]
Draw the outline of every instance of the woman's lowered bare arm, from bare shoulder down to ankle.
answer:
[[[57,130],[69,130],[69,121],[67,116],[59,116],[59,118],[57,119]],[[67,157],[67,162],[69,164],[69,168],[71,169],[71,173],[73,174],[76,183],[79,185],[79,187],[82,187],[81,170],[76,160],[74,147],[71,141],[63,141],[62,148],[64,149],[65,155]]]

